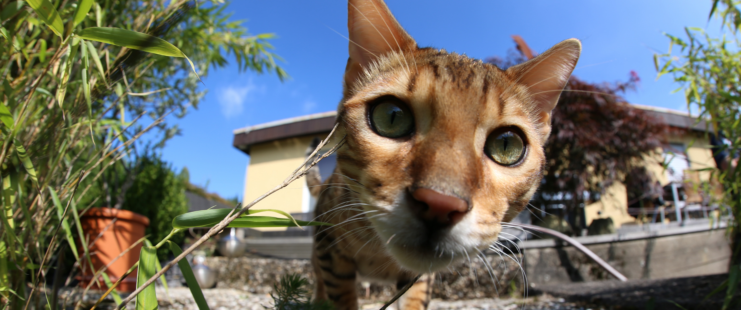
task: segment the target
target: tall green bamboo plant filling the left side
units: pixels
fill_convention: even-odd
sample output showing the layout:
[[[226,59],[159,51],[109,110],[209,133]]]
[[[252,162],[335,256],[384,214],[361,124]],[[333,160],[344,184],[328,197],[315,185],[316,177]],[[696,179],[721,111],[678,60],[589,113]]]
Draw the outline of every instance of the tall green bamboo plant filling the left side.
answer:
[[[100,205],[96,184],[110,167],[178,132],[167,120],[197,107],[205,94],[199,75],[231,56],[241,70],[288,76],[270,52],[273,35],[250,36],[225,7],[219,0],[0,0],[0,309],[58,309],[59,288],[72,280],[57,268],[65,249],[74,270],[93,266],[79,217]],[[232,219],[248,212],[237,214]],[[189,217],[173,233],[192,225]],[[310,224],[286,221],[259,225]],[[144,246],[140,279],[159,269],[152,255],[169,237]],[[148,292],[138,309],[156,306]]]

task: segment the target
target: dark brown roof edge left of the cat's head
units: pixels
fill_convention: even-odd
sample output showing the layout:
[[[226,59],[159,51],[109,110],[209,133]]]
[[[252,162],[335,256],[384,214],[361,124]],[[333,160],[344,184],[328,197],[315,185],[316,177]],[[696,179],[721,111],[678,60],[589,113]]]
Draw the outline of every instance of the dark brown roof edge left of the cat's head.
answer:
[[[322,113],[328,115],[330,113]],[[322,115],[323,116],[323,115]],[[250,128],[235,131],[232,145],[242,150],[247,155],[250,154],[250,146],[262,142],[274,141],[283,138],[291,138],[299,135],[311,135],[321,132],[330,132],[334,127],[335,115],[324,116],[319,118],[308,118],[302,121],[283,122],[273,127],[257,129]]]

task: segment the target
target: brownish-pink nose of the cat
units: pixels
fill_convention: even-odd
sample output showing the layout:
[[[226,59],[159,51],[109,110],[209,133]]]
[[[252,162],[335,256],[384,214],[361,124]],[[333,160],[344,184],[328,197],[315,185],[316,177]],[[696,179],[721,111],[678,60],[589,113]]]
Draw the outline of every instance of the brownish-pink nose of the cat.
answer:
[[[416,189],[412,197],[428,206],[419,210],[419,217],[436,225],[451,226],[468,212],[468,203],[461,198],[440,194],[432,189]]]

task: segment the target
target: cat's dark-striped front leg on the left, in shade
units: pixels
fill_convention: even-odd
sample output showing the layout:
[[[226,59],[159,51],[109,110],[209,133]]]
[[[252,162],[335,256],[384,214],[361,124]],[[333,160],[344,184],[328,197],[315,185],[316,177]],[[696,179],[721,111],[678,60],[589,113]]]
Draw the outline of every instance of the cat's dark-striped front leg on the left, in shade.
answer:
[[[331,300],[335,310],[357,310],[355,262],[340,252],[322,247],[325,246],[322,243],[328,240],[319,240],[311,259],[316,274],[316,299]]]

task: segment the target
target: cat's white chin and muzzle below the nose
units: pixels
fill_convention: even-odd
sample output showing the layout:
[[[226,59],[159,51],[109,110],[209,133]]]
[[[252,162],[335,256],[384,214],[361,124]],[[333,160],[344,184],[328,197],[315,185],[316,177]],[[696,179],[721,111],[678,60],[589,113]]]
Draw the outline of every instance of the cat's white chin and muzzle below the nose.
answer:
[[[413,217],[384,217],[371,220],[386,249],[405,269],[417,273],[437,272],[451,263],[476,257],[488,247],[476,229],[475,216],[467,215],[445,229],[430,230]]]

